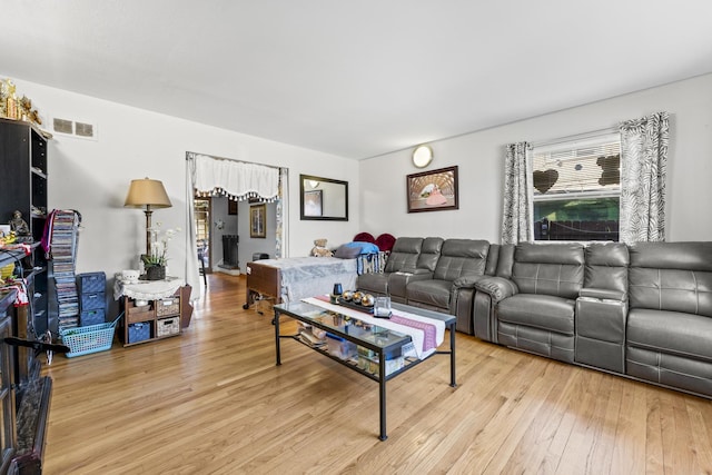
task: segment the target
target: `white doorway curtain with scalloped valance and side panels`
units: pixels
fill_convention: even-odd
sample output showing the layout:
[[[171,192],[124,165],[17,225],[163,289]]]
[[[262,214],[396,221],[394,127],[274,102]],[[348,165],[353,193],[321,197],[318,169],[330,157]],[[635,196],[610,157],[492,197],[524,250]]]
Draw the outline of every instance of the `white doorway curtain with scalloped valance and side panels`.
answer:
[[[186,256],[196,254],[195,229],[195,194],[221,195],[230,199],[245,200],[260,198],[266,201],[280,201],[280,169],[258,164],[238,161],[207,155],[186,154],[186,202],[188,216],[186,217]],[[285,171],[286,172],[286,171]],[[284,214],[277,216],[277,243],[284,243],[285,226],[280,222]],[[195,291],[200,287],[200,274],[198,261],[186,258],[186,280]]]

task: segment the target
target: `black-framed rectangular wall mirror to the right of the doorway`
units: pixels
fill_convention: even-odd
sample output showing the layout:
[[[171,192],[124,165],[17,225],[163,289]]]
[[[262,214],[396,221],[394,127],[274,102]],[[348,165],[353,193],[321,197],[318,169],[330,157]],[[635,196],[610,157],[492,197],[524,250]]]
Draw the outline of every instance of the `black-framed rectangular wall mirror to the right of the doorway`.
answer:
[[[348,181],[299,175],[303,220],[348,221]]]

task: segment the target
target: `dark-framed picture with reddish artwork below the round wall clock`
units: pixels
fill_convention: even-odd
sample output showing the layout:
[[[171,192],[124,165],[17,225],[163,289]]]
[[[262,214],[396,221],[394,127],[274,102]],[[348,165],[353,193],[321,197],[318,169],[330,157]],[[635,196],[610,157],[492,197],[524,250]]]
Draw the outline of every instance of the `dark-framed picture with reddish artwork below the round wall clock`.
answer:
[[[457,166],[406,177],[408,212],[458,209]]]

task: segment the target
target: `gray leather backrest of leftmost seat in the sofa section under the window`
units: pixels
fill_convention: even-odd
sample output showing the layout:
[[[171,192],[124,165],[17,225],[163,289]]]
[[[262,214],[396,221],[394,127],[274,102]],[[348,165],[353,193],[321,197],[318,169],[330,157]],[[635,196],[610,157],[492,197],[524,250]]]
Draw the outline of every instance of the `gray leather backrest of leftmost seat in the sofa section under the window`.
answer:
[[[583,249],[581,244],[521,243],[514,250],[512,280],[522,294],[576,298],[583,286]]]

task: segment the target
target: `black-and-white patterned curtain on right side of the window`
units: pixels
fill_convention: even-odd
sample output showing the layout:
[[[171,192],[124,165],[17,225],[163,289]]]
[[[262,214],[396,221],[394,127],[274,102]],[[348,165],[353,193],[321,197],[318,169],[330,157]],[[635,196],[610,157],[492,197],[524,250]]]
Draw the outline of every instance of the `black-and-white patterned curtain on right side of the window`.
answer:
[[[668,112],[620,123],[620,240],[665,240],[665,167],[670,136]]]

